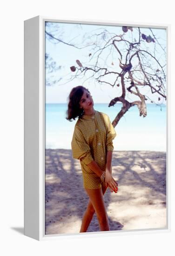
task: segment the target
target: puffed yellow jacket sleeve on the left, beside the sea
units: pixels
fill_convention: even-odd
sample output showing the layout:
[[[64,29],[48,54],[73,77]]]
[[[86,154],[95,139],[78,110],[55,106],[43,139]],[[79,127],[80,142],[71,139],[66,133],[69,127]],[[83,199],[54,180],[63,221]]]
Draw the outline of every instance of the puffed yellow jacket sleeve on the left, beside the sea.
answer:
[[[86,142],[79,127],[74,128],[74,135],[71,142],[73,158],[79,159],[86,165],[94,159],[91,155],[90,147]]]

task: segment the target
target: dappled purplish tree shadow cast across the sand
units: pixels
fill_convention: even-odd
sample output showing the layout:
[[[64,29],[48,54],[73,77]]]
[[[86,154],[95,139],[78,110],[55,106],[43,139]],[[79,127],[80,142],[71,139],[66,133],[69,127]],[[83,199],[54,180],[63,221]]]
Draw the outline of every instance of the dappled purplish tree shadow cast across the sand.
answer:
[[[166,153],[151,151],[114,151],[113,176],[120,186],[134,186],[134,189],[150,189],[151,193],[145,196],[144,204],[151,205],[154,199],[159,199],[166,207]],[[81,166],[79,160],[72,158],[71,150],[46,149],[45,162],[45,228],[50,233],[50,225],[58,223],[61,229],[56,233],[69,233],[64,229],[64,223],[81,221],[88,204],[88,195],[83,189]],[[108,189],[104,195],[105,205],[113,202]],[[146,192],[145,192],[146,194]],[[117,194],[116,194],[117,195]],[[136,198],[136,196],[135,196]],[[133,196],[115,196],[117,202],[126,203]],[[66,210],[65,210],[66,209]],[[116,209],[117,210],[117,209]],[[110,213],[110,209],[108,209]],[[121,230],[123,225],[108,216],[111,230]],[[99,231],[96,215],[89,225],[88,232]],[[53,232],[53,231],[52,231]],[[71,231],[70,231],[71,232]],[[77,230],[77,233],[79,230]],[[75,233],[75,232],[74,232]]]

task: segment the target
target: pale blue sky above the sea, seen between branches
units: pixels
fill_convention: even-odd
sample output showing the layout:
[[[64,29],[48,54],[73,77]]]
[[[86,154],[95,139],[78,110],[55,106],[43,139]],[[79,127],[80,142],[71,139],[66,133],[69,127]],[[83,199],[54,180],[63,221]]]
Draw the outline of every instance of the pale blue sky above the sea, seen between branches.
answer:
[[[49,25],[49,27],[48,27]],[[77,49],[75,47],[68,46],[57,40],[48,40],[46,37],[45,40],[45,49],[46,53],[49,54],[49,57],[52,57],[53,61],[56,62],[56,66],[61,66],[61,69],[58,69],[56,72],[48,73],[46,69],[46,81],[58,81],[54,85],[46,86],[46,103],[67,103],[67,97],[71,89],[78,85],[83,85],[88,88],[91,94],[93,95],[95,103],[109,103],[114,97],[121,95],[121,86],[110,86],[108,84],[101,84],[94,80],[94,78],[89,79],[92,76],[92,73],[87,72],[86,75],[81,75],[80,77],[71,80],[72,75],[76,72],[70,70],[71,66],[77,67],[76,60],[80,60],[83,66],[94,65],[96,58],[90,60],[89,54],[92,53],[92,43],[97,42],[101,43],[103,39],[108,40],[108,35],[104,38],[104,34],[101,34],[102,31],[106,29],[110,33],[110,37],[114,34],[122,34],[122,28],[119,26],[104,26],[104,25],[89,25],[89,24],[74,24],[74,23],[59,23],[59,22],[49,22],[46,26],[46,31],[52,31],[52,34],[55,34],[56,38],[59,38],[69,44],[76,44],[79,47],[86,45],[87,47],[83,49]],[[160,28],[152,29],[153,33],[159,39],[161,46],[166,47],[166,30]],[[141,33],[146,35],[151,34],[148,28],[141,28]],[[93,34],[101,34],[101,36],[92,36]],[[128,40],[138,40],[138,27],[133,27],[133,32],[128,30],[125,34],[125,38]],[[122,46],[120,44],[120,46]],[[94,47],[94,45],[93,45]],[[145,48],[144,48],[145,47]],[[156,58],[160,61],[161,65],[166,64],[166,56],[162,54],[161,47],[158,44],[153,42],[144,43],[143,49],[149,48],[149,51],[154,51]],[[123,45],[123,48],[126,48]],[[166,50],[166,49],[165,49]],[[101,67],[105,64],[110,71],[121,71],[119,67],[119,54],[116,53],[116,50],[106,48],[104,54],[100,55],[100,65]],[[96,55],[97,56],[97,55]],[[148,57],[149,61],[149,57]],[[135,60],[133,58],[133,64]],[[147,63],[146,63],[147,64]],[[155,62],[151,63],[152,67],[155,67]],[[61,80],[60,80],[61,78]],[[110,75],[108,81],[114,82],[116,76]],[[139,79],[139,76],[138,76]],[[107,81],[107,80],[105,80]],[[119,81],[120,83],[120,81]],[[151,95],[149,93],[148,87],[142,87],[141,93],[148,96],[153,96],[152,99],[156,103],[166,104],[166,101],[161,98],[161,101],[158,101],[158,95]],[[140,100],[134,94],[126,92],[126,99],[128,101]],[[147,103],[150,103],[150,101]]]

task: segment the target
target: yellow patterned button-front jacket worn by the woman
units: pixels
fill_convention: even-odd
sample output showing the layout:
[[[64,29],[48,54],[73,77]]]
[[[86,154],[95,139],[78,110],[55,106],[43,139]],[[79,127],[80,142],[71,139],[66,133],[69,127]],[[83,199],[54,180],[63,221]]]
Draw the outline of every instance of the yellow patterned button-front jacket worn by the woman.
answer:
[[[88,188],[87,180],[90,175],[101,183],[99,177],[97,178],[87,165],[94,160],[101,170],[105,171],[107,151],[113,151],[115,136],[108,115],[102,112],[95,111],[94,115],[83,115],[77,120],[71,146],[73,158],[81,162],[84,187]],[[97,187],[99,188],[100,185],[98,184]]]

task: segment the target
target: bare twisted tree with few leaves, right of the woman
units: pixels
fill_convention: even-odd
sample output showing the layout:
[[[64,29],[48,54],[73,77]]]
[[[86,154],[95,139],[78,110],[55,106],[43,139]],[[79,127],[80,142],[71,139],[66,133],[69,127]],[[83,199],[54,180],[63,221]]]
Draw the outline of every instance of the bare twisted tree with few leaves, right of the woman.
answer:
[[[149,95],[156,94],[158,101],[166,101],[165,45],[160,43],[160,38],[151,28],[147,29],[147,34],[142,33],[144,28],[141,27],[120,28],[121,34],[111,33],[105,28],[99,34],[85,36],[81,47],[69,44],[79,49],[88,47],[88,60],[85,63],[76,60],[76,65],[70,67],[73,72],[70,80],[88,74],[88,79],[118,88],[116,97],[108,105],[122,103],[120,112],[114,118],[114,127],[135,105],[140,116],[147,116],[146,101],[154,103]],[[59,39],[54,37],[54,40]],[[129,101],[126,94],[135,95],[138,99]]]

